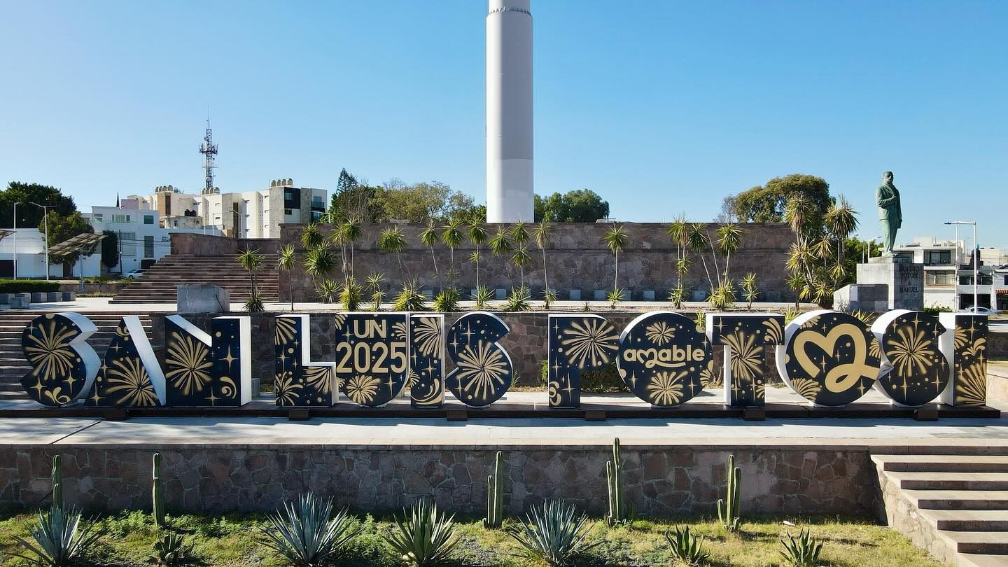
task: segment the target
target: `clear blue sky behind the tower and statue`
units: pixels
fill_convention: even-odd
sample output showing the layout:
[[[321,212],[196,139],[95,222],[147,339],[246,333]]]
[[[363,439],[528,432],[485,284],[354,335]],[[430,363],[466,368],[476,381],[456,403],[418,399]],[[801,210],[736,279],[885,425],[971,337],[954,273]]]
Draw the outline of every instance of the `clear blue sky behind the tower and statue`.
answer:
[[[0,0],[0,181],[79,205],[218,185],[437,180],[484,201],[483,0]],[[724,196],[824,177],[879,233],[976,219],[1008,246],[1008,3],[532,0],[535,186],[627,221],[711,220]]]

